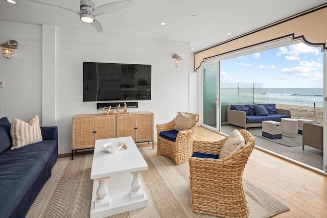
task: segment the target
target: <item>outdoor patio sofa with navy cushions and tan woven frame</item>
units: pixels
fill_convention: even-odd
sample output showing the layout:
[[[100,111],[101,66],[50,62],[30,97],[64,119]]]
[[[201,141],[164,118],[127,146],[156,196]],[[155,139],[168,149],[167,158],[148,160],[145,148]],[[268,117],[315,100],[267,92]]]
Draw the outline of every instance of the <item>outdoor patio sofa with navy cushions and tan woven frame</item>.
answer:
[[[227,125],[262,127],[264,120],[281,122],[282,118],[291,118],[291,111],[277,109],[275,104],[227,105]]]

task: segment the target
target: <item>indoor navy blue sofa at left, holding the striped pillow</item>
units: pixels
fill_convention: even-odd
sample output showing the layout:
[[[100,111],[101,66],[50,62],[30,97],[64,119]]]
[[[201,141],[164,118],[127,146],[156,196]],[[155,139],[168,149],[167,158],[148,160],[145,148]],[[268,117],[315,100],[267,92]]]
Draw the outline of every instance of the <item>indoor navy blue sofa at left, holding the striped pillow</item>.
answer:
[[[10,122],[0,119],[0,217],[25,217],[51,177],[58,157],[57,127],[41,127],[43,140],[10,150]]]

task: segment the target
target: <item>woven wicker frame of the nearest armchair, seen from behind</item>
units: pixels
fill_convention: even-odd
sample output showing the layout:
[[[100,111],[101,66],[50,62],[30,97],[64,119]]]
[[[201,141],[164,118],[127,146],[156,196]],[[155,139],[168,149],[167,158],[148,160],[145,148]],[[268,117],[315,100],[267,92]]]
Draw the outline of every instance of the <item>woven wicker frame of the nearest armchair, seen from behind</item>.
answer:
[[[242,175],[254,148],[255,139],[239,130],[246,146],[224,159],[191,157],[190,186],[192,210],[219,217],[247,217]],[[216,142],[194,141],[193,152],[219,154],[226,139]],[[250,143],[248,143],[250,142]],[[248,144],[247,144],[248,143]]]

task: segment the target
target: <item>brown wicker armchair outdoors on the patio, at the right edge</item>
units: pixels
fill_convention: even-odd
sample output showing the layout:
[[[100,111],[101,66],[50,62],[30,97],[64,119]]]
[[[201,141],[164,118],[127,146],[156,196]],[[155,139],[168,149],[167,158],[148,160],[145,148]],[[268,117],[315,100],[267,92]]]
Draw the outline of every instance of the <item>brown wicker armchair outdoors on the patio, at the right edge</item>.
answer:
[[[323,127],[315,124],[304,123],[302,131],[302,150],[305,145],[323,151]]]

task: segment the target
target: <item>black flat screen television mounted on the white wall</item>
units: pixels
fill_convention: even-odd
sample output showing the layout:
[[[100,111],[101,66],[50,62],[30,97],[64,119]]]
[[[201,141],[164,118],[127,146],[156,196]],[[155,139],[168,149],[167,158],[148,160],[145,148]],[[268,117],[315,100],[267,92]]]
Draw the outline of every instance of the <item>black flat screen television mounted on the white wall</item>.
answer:
[[[83,62],[83,102],[151,100],[151,65]]]

